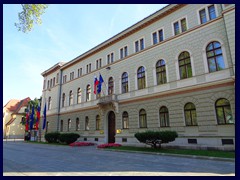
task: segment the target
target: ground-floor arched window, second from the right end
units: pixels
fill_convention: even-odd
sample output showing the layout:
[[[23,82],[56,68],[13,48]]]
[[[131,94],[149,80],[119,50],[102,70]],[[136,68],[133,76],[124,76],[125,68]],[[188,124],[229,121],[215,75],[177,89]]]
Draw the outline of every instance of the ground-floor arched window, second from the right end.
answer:
[[[184,106],[186,126],[197,126],[196,108],[193,103],[187,103]]]

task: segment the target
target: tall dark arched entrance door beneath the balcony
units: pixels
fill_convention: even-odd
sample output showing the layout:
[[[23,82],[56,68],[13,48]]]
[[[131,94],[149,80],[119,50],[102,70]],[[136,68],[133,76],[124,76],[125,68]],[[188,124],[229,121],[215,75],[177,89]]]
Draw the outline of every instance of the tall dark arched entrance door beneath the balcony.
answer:
[[[113,111],[108,114],[108,143],[115,143],[115,114]]]

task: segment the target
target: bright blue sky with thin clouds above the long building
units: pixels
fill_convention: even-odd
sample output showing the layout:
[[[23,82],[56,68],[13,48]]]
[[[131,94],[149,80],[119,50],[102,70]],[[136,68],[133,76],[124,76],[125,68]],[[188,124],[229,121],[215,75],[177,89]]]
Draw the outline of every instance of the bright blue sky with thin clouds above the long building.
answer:
[[[17,30],[20,4],[3,5],[3,106],[40,98],[41,73],[68,62],[167,4],[50,4],[42,24]]]

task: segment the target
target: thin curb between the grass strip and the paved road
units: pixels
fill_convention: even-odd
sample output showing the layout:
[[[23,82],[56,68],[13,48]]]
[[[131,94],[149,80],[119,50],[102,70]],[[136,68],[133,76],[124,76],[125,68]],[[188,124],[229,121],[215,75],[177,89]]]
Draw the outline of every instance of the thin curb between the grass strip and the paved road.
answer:
[[[171,157],[186,157],[193,159],[207,159],[207,160],[215,160],[215,161],[229,161],[235,162],[235,158],[220,158],[220,157],[208,157],[208,156],[197,156],[197,155],[184,155],[184,154],[168,154],[168,153],[155,153],[155,152],[142,152],[142,151],[128,151],[128,150],[116,150],[116,149],[104,149],[97,148],[97,150],[103,151],[116,151],[116,152],[129,152],[129,153],[140,153],[140,154],[153,154],[153,155],[162,155],[162,156],[171,156]]]

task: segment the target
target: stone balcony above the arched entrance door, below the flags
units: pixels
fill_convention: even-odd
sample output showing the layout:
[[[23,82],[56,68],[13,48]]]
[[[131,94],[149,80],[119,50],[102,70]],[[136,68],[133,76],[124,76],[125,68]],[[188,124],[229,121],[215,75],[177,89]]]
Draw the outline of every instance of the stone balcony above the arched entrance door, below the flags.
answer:
[[[100,107],[100,109],[111,106],[114,111],[118,113],[118,99],[116,94],[100,97],[97,105]]]

